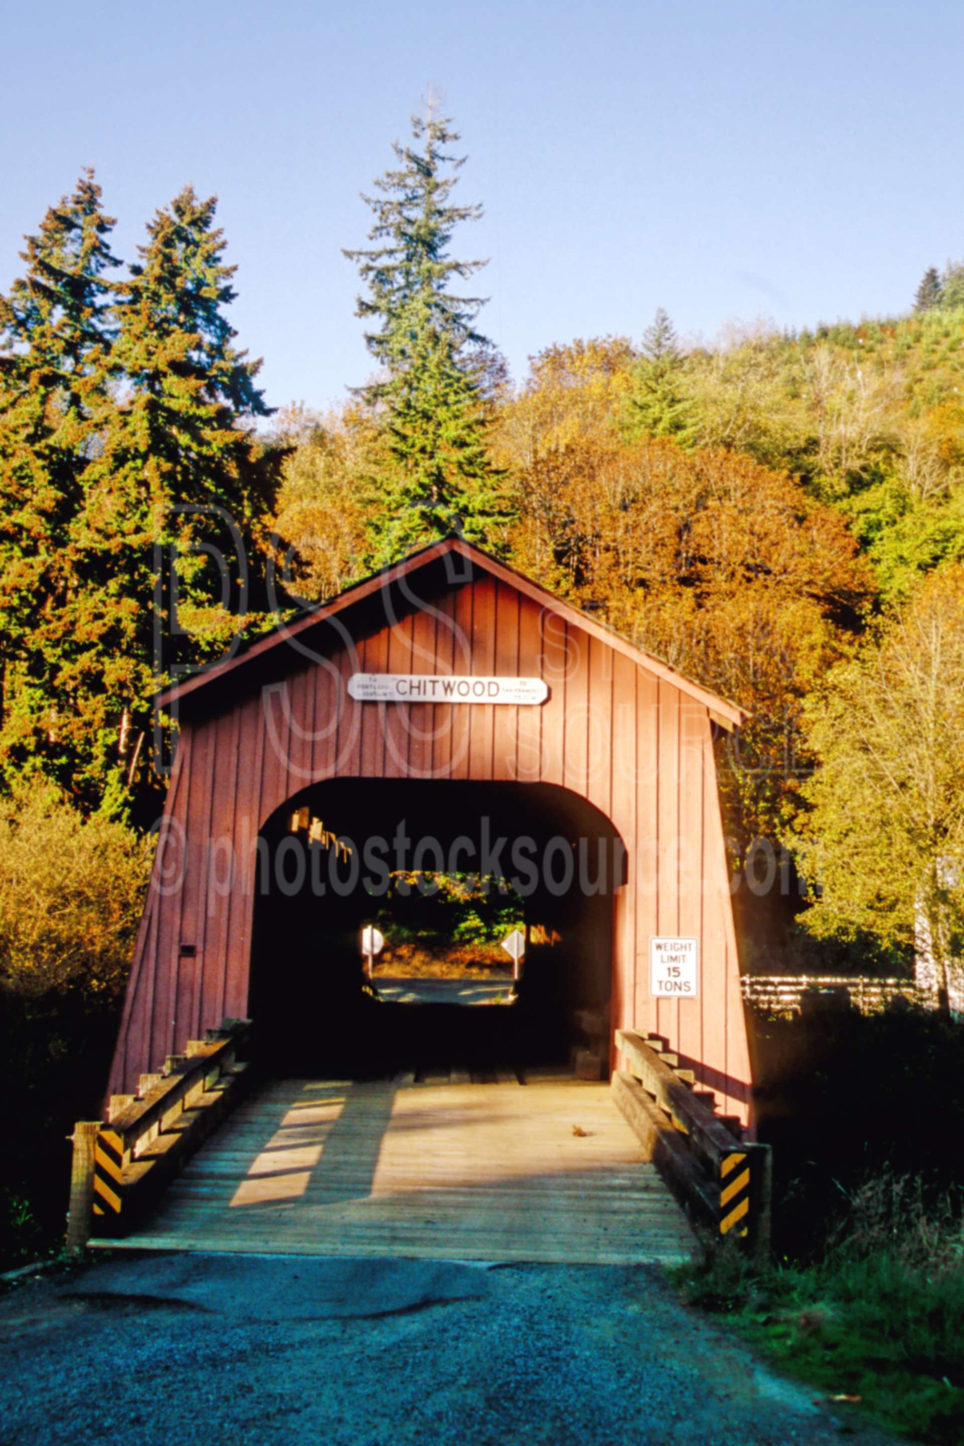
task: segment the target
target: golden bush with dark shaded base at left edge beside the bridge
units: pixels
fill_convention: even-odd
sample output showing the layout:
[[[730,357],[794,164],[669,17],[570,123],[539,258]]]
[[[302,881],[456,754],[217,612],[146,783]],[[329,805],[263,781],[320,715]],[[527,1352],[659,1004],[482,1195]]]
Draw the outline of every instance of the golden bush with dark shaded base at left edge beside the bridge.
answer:
[[[52,785],[0,797],[0,1270],[62,1238],[65,1137],[100,1116],[152,853]]]

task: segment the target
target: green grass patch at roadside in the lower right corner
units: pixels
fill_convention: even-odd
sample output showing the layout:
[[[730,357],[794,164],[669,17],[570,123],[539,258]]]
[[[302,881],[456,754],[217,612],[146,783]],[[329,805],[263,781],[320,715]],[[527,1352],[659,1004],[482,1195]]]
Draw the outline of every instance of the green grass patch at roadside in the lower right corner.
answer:
[[[926,1202],[919,1178],[867,1181],[812,1261],[724,1244],[672,1277],[821,1395],[918,1442],[964,1442],[964,1235],[957,1202]]]

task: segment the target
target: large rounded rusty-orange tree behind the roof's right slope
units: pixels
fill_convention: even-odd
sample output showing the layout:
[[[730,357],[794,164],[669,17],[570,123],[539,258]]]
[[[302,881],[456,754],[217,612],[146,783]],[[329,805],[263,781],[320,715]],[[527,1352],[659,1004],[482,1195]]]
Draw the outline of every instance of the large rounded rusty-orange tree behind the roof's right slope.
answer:
[[[870,576],[843,519],[747,457],[582,437],[519,477],[522,571],[746,707],[723,771],[741,847],[793,810],[799,711]]]

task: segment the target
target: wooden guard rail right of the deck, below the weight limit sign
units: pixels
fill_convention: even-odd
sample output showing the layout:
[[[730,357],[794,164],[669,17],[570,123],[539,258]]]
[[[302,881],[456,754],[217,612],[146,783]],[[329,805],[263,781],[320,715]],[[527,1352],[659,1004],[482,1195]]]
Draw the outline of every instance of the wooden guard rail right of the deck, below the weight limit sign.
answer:
[[[713,1093],[694,1087],[659,1035],[617,1030],[616,1044],[629,1071],[613,1074],[613,1098],[669,1189],[714,1233],[766,1254],[770,1147],[746,1144],[739,1122],[714,1112]]]

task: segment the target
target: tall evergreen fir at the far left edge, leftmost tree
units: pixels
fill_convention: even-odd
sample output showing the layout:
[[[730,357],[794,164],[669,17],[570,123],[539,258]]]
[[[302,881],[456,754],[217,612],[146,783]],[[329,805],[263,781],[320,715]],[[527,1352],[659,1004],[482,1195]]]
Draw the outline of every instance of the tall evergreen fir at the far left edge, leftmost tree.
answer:
[[[59,619],[74,591],[71,519],[108,395],[114,221],[85,172],[26,239],[0,298],[0,772],[64,779]]]

